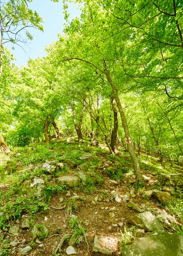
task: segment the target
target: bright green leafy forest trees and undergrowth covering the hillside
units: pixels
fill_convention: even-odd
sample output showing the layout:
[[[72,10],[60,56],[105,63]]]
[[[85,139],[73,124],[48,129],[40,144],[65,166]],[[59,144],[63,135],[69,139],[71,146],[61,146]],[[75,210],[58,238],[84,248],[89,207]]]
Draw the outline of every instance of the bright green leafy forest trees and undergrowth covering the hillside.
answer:
[[[10,183],[14,188],[17,180],[23,186],[26,179],[31,180],[33,176],[39,177],[39,175],[42,177],[39,170],[41,164],[52,163],[56,158],[59,163],[63,162],[63,165],[65,163],[67,166],[64,167],[65,169],[73,168],[74,172],[92,169],[92,163],[93,168],[97,169],[100,165],[93,160],[93,154],[99,154],[105,157],[104,162],[113,164],[110,166],[110,163],[106,162],[110,167],[104,173],[105,166],[102,173],[95,171],[98,185],[94,185],[92,179],[87,178],[90,182],[88,181],[85,189],[89,195],[99,191],[99,187],[98,190],[94,187],[102,186],[100,179],[107,172],[108,177],[111,175],[112,180],[120,182],[130,168],[132,171],[130,177],[135,179],[134,182],[127,181],[127,184],[134,188],[131,188],[130,195],[135,192],[141,196],[147,182],[150,182],[143,177],[144,170],[152,172],[154,168],[156,175],[162,173],[178,175],[176,183],[180,183],[181,189],[176,190],[174,187],[172,195],[176,200],[181,201],[183,195],[182,1],[76,0],[74,2],[81,10],[81,15],[72,21],[69,20],[69,2],[63,1],[64,33],[58,35],[57,41],[47,45],[46,57],[30,58],[26,67],[19,68],[13,63],[14,56],[6,44],[13,48],[16,45],[23,47],[28,40],[34,40],[29,32],[30,27],[44,31],[42,17],[28,8],[30,2],[32,0],[7,0],[5,3],[0,1],[0,176],[2,179],[0,184],[2,188],[8,180],[11,180]],[[66,163],[61,152],[67,159],[70,158],[72,163]],[[88,156],[87,161],[81,159],[82,154]],[[92,160],[89,159],[90,155]],[[144,169],[145,164],[151,165],[151,169],[148,169],[149,167]],[[119,167],[121,165],[123,168]],[[38,168],[39,172],[35,168]],[[121,173],[117,171],[118,169]],[[18,172],[24,176],[20,178]],[[53,177],[55,179],[57,176],[53,175]],[[159,178],[158,181],[160,182]],[[48,179],[47,182],[51,180]],[[124,183],[124,186],[127,184]],[[44,199],[47,202],[52,198],[52,195],[48,196],[49,189],[57,193],[65,192],[63,184],[62,189],[60,186],[58,188],[58,185],[54,185],[54,188],[53,184],[47,185],[49,186],[47,190],[45,189],[47,194]],[[121,188],[120,183],[118,186]],[[162,187],[158,186],[158,190],[161,189]],[[13,189],[10,190],[13,193]],[[2,202],[5,202],[7,196],[3,193],[5,192],[0,193],[0,198],[2,196]],[[153,200],[159,200],[156,192],[153,193],[156,198]],[[9,192],[8,198],[12,195]],[[104,194],[102,195],[105,199]],[[20,198],[22,196],[23,194]],[[146,194],[145,199],[147,196],[149,194]],[[43,207],[48,211],[46,201],[43,203],[38,200],[37,204],[39,208]],[[94,203],[96,201],[94,200]],[[159,201],[165,205],[164,201]],[[16,211],[18,204],[21,204],[21,200],[16,204]],[[157,204],[157,201],[154,201],[154,204]],[[68,207],[68,204],[66,205]],[[167,210],[178,216],[181,228],[183,210],[181,208],[177,212],[171,212],[173,208],[176,208],[175,205],[172,208],[169,206]],[[2,230],[11,227],[13,223],[11,214],[7,217],[7,209],[3,210],[3,217],[0,219]],[[26,211],[28,208],[21,209],[19,216],[16,213],[14,221]],[[34,210],[31,214],[33,213]],[[96,219],[97,224],[99,225]],[[70,225],[77,226],[73,223]],[[128,232],[126,230],[124,234]],[[178,232],[183,234],[183,231]],[[89,246],[84,233],[82,239],[76,240],[76,244],[85,242],[85,246]],[[34,247],[33,240],[31,248]],[[61,246],[57,251],[61,252]],[[4,251],[4,247],[0,248],[2,248],[0,255],[8,255],[3,254],[8,253]],[[180,250],[182,253],[183,246]],[[57,251],[54,255],[57,255]],[[93,249],[93,252],[96,251]],[[17,255],[16,250],[14,253]],[[177,252],[176,255],[180,256],[181,253]],[[122,254],[130,255],[127,251]],[[36,255],[48,254],[37,252]],[[146,254],[142,255],[146,256]],[[170,255],[173,255],[172,252]]]

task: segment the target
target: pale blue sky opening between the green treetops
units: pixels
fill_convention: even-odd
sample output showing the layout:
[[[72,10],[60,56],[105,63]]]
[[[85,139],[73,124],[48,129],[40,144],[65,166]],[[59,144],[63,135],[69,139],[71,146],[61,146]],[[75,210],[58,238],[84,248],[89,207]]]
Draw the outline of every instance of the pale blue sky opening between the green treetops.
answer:
[[[12,50],[13,45],[11,43],[6,44],[6,47],[8,47],[17,59],[14,63],[18,67],[21,67],[22,64],[26,66],[29,57],[35,59],[45,56],[45,45],[56,41],[58,38],[57,34],[63,33],[64,14],[62,0],[59,3],[53,3],[51,0],[33,0],[32,3],[28,4],[28,7],[37,11],[39,16],[43,17],[45,31],[41,32],[33,28],[28,29],[34,35],[34,39],[33,41],[29,41],[27,46],[22,45],[25,51],[19,46],[15,46],[15,50]],[[69,20],[80,15],[80,11],[73,3],[69,5],[68,12],[70,14]]]

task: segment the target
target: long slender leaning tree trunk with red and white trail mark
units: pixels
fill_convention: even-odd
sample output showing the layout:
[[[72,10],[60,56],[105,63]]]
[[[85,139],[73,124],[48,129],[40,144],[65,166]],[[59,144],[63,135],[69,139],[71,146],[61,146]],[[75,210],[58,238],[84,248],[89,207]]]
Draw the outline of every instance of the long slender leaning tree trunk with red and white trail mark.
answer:
[[[105,70],[106,70],[107,79],[110,82],[110,85],[113,89],[113,94],[114,94],[114,97],[115,97],[116,105],[118,107],[118,110],[119,110],[119,113],[120,113],[120,116],[121,116],[121,121],[122,121],[122,124],[123,124],[124,133],[125,133],[125,137],[126,137],[126,140],[127,140],[127,148],[128,148],[130,157],[132,159],[133,168],[134,168],[134,172],[135,172],[135,180],[138,183],[142,183],[143,180],[142,180],[142,175],[141,175],[141,169],[140,169],[140,166],[139,166],[139,163],[138,163],[138,158],[135,154],[135,151],[132,147],[132,143],[131,143],[131,140],[130,140],[130,131],[128,129],[127,120],[126,120],[123,108],[121,106],[121,102],[119,100],[118,93],[117,93],[117,90],[115,88],[115,84],[113,83],[113,80],[110,77],[110,73],[109,73],[109,70],[108,70],[108,68],[105,64],[105,61],[104,61],[104,67],[105,67]]]

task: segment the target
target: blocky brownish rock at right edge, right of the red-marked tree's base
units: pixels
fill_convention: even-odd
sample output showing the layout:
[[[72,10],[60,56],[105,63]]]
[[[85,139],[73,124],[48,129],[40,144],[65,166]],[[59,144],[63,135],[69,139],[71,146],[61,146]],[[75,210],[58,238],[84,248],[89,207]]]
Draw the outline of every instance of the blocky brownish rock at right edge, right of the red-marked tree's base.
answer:
[[[182,174],[164,174],[158,175],[160,186],[172,187],[175,192],[183,192],[183,175]]]

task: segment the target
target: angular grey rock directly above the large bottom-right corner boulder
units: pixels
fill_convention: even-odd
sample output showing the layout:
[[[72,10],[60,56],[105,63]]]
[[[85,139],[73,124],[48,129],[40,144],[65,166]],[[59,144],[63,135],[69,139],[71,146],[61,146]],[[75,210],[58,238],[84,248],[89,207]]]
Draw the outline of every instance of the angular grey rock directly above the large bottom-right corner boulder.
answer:
[[[151,212],[139,213],[130,218],[128,223],[148,232],[163,230],[163,226],[160,224],[160,221],[155,217],[155,215],[152,215]]]

